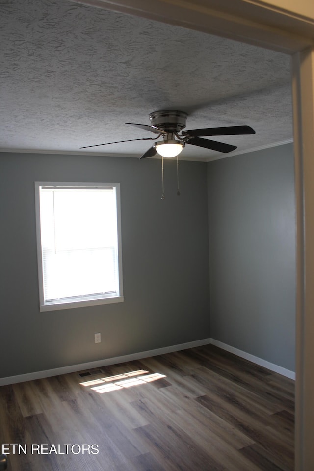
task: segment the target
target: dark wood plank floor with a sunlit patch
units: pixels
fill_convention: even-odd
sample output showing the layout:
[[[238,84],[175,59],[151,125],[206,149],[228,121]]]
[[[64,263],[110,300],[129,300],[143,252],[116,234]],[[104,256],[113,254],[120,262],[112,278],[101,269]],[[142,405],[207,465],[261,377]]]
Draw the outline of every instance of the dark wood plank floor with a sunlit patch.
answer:
[[[9,470],[293,470],[292,380],[212,345],[93,373],[0,387]]]

